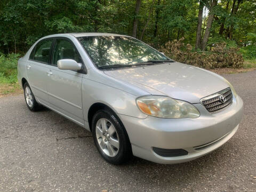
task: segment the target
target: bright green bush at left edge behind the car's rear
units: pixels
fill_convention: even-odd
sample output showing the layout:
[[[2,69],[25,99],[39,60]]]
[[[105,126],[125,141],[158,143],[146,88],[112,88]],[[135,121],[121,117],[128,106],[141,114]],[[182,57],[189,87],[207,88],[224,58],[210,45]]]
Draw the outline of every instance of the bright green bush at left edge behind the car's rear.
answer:
[[[17,82],[17,63],[20,55],[9,54],[7,56],[0,53],[0,83]]]

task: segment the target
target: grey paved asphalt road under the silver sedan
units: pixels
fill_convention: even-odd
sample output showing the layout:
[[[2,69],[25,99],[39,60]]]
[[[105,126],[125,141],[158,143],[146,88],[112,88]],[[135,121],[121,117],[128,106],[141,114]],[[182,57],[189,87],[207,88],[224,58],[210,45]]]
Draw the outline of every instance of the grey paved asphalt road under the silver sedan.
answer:
[[[224,75],[244,100],[226,145],[195,161],[161,165],[134,157],[106,163],[91,133],[51,110],[0,99],[0,191],[256,191],[256,70]]]

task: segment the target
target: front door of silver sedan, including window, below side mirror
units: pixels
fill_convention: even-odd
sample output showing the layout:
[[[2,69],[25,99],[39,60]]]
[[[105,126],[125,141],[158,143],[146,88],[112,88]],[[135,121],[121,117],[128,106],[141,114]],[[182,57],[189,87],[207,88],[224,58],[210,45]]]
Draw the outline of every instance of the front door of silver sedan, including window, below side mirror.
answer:
[[[82,108],[82,71],[61,70],[57,67],[60,59],[82,59],[68,38],[56,38],[53,44],[52,61],[49,66],[47,92],[49,105],[61,114],[84,125]]]

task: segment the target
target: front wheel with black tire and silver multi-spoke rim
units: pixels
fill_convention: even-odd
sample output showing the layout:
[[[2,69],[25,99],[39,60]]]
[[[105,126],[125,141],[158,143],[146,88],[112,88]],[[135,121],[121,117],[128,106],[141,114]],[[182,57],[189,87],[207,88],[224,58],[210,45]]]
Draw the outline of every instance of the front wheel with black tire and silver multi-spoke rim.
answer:
[[[104,124],[107,125],[107,129],[102,126]],[[131,143],[126,130],[112,111],[103,109],[95,113],[92,118],[92,135],[95,146],[107,162],[119,165],[129,161],[132,157]],[[119,142],[119,146],[116,141]]]

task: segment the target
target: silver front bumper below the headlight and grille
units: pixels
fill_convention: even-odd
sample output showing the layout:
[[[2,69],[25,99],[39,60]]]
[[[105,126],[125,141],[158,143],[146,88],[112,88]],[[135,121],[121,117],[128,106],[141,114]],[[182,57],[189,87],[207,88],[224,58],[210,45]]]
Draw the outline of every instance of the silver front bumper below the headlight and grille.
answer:
[[[229,107],[217,114],[210,114],[201,103],[194,105],[201,113],[198,118],[148,116],[140,119],[119,114],[129,135],[133,155],[163,164],[187,162],[222,146],[237,131],[243,116],[243,101],[238,95],[233,97]],[[153,147],[185,149],[188,154],[163,157],[157,155]]]

